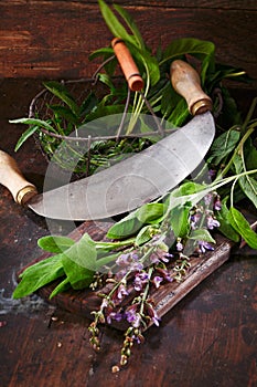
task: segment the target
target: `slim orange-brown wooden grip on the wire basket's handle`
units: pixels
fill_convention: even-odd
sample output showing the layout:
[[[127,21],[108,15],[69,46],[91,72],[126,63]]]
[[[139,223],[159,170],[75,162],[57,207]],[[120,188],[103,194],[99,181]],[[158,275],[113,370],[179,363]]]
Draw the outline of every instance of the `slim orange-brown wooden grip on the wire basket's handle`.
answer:
[[[125,42],[119,38],[115,38],[111,41],[111,46],[128,82],[129,88],[132,92],[139,92],[143,87],[143,80]]]

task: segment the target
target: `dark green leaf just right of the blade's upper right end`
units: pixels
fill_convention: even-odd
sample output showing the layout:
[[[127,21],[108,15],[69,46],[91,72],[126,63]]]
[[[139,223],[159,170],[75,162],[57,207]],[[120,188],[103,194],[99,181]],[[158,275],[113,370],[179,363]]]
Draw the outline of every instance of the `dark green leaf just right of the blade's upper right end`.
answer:
[[[208,161],[218,165],[231,151],[233,151],[240,139],[238,130],[227,130],[218,136],[212,147]]]

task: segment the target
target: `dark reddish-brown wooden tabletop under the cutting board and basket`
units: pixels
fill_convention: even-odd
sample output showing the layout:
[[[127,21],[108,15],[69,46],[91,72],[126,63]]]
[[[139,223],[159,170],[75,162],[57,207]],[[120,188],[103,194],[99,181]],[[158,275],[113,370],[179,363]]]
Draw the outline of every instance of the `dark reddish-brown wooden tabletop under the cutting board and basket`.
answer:
[[[11,155],[36,81],[0,81],[0,147]],[[247,96],[248,93],[247,93]],[[244,100],[246,101],[246,100]],[[15,158],[42,185],[45,161],[28,142]],[[63,226],[65,227],[65,224]],[[14,274],[40,250],[44,219],[18,207],[0,187],[0,385],[39,386],[257,386],[257,252],[235,250],[228,262],[181,301],[135,346],[129,366],[111,374],[122,333],[105,328],[101,352],[88,344],[88,321],[35,297],[13,302]]]

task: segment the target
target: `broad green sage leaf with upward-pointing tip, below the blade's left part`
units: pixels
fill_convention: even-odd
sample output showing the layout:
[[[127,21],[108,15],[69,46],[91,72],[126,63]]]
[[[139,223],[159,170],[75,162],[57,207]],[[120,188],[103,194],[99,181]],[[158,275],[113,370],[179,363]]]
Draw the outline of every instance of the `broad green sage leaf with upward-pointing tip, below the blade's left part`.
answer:
[[[87,233],[62,254],[63,269],[73,289],[89,286],[96,270],[96,258],[95,242]]]

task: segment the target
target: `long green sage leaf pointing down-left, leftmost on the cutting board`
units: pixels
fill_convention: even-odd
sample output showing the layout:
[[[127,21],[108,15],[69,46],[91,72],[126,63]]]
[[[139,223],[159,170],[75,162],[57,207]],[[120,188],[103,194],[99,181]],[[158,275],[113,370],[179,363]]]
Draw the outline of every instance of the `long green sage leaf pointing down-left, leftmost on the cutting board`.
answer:
[[[26,268],[21,274],[21,282],[19,282],[12,294],[13,299],[32,294],[40,287],[62,278],[64,271],[61,258],[62,254],[50,257]]]

